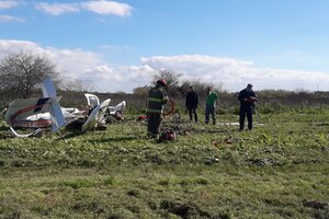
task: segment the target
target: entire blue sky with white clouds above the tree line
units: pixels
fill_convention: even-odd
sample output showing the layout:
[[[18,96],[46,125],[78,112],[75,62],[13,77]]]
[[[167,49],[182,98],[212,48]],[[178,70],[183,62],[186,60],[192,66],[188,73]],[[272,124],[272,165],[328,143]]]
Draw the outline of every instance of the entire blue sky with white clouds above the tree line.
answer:
[[[328,0],[0,0],[0,60],[41,55],[99,92],[129,93],[160,70],[229,92],[328,91]]]

